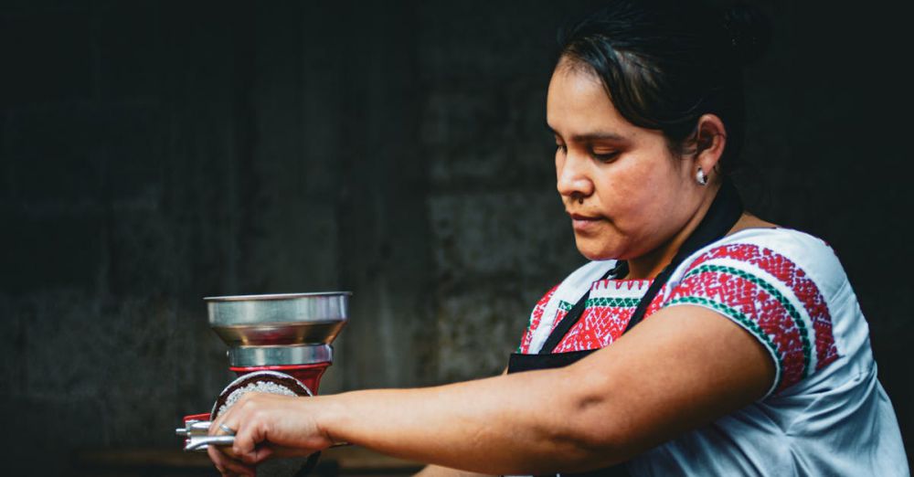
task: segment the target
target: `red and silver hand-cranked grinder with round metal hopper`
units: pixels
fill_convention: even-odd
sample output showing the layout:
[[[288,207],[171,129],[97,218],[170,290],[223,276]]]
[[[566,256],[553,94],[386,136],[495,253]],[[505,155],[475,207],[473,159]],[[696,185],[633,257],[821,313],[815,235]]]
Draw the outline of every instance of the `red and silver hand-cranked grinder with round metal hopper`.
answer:
[[[208,297],[209,326],[228,345],[228,368],[239,375],[206,414],[185,416],[185,451],[231,445],[234,436],[207,436],[209,424],[248,392],[313,396],[333,343],[348,320],[351,292]]]

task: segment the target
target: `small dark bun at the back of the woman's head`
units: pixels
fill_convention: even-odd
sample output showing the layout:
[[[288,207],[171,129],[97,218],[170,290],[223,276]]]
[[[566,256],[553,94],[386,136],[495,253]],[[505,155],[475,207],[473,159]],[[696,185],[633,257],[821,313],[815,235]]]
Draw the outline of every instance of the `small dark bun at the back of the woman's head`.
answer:
[[[733,5],[724,12],[733,58],[745,66],[764,55],[771,42],[771,21],[752,5]]]

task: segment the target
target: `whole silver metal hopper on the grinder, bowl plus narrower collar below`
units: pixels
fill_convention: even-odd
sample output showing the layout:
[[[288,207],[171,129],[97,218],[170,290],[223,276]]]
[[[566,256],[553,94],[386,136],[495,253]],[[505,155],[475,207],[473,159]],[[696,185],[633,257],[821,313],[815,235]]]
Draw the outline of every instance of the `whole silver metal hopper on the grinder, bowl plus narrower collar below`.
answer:
[[[228,345],[230,366],[333,361],[351,292],[207,297],[209,325]]]

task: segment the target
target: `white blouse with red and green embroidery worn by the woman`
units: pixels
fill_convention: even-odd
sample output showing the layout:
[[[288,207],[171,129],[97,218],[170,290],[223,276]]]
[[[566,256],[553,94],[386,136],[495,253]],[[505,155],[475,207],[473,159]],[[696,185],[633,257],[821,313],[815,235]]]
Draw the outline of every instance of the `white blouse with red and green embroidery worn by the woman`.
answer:
[[[547,292],[519,352],[537,353],[588,287],[579,323],[555,352],[618,339],[651,281],[600,280],[614,265],[592,261]],[[683,304],[739,324],[768,350],[775,376],[749,407],[630,461],[632,475],[909,475],[866,320],[824,241],[784,228],[721,238],[673,272],[644,319]]]

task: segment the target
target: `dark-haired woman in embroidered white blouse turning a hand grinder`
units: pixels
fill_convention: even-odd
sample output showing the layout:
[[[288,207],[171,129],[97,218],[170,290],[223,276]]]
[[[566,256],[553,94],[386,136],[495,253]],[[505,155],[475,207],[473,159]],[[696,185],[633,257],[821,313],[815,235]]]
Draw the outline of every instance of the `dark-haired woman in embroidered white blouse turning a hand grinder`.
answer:
[[[592,260],[537,304],[504,376],[318,398],[248,395],[219,470],[346,441],[428,474],[907,475],[834,252],[742,210],[750,10],[616,2],[549,83],[558,192]],[[454,470],[452,470],[454,469]]]

